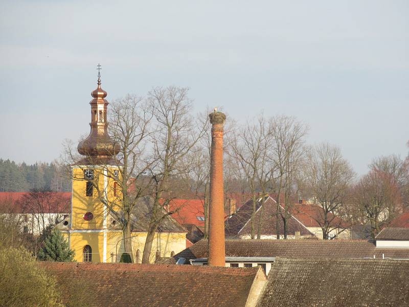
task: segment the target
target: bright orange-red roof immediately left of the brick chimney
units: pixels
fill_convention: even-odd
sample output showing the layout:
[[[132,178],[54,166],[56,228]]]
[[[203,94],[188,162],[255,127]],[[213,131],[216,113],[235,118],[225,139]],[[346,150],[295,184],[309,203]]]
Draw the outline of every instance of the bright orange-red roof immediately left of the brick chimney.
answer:
[[[205,227],[205,209],[203,200],[178,200],[169,202],[169,211],[176,211],[172,217],[180,225],[196,225]]]

